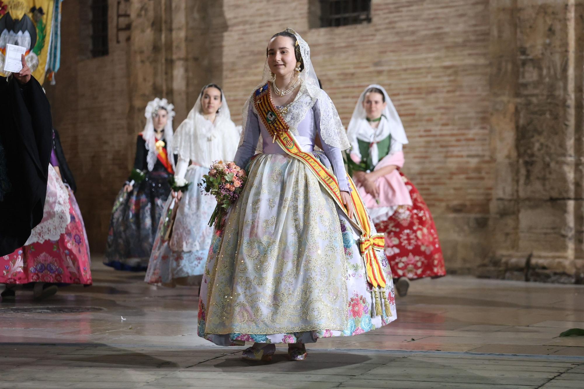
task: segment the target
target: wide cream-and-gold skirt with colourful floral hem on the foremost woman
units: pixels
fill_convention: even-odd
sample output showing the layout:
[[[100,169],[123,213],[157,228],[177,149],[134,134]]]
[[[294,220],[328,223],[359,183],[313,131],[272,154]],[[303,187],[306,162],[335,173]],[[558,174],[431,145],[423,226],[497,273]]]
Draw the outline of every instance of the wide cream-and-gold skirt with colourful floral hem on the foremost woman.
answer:
[[[328,164],[328,161],[323,161]],[[215,231],[199,301],[199,336],[221,346],[245,341],[310,343],[380,328],[359,234],[297,159],[261,154],[237,203]]]

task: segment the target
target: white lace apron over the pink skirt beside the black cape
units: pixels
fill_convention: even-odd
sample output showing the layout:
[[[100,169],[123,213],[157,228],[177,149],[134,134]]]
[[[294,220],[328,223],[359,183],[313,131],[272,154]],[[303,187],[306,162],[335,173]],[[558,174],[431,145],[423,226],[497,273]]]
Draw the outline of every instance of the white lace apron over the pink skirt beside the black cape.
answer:
[[[56,241],[65,233],[69,215],[69,192],[52,165],[48,165],[47,196],[44,200],[43,220],[33,228],[25,245]]]

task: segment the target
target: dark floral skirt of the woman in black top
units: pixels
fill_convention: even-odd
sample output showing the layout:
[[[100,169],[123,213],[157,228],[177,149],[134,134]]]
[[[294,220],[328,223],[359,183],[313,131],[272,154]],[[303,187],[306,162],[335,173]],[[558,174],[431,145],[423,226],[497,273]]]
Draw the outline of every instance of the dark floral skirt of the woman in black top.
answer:
[[[131,192],[122,188],[117,194],[107,235],[105,265],[132,272],[148,268],[156,228],[171,194],[168,178],[166,171],[147,172]]]

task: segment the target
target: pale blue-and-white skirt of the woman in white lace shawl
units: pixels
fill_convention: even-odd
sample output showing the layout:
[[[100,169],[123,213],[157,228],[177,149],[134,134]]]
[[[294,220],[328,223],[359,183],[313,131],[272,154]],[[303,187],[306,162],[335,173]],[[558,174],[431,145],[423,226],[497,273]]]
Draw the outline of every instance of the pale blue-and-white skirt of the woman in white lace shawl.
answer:
[[[172,196],[166,201],[145,282],[164,286],[200,284],[213,238],[208,223],[217,205],[213,196],[201,193],[197,186],[207,172],[208,168],[189,166],[185,175],[191,183],[189,189],[179,201]]]

